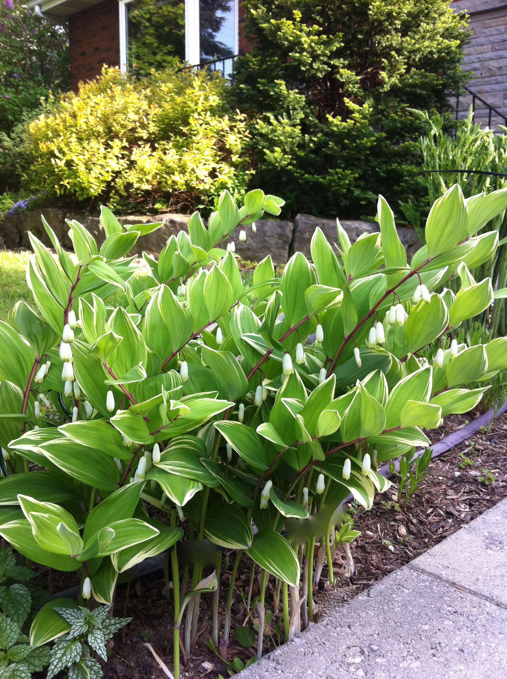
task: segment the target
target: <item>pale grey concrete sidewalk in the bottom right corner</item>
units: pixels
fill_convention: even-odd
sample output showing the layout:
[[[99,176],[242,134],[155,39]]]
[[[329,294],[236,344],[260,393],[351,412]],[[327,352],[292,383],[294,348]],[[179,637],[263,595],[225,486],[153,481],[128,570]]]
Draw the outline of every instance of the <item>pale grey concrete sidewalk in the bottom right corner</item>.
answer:
[[[507,500],[242,679],[507,679]]]

